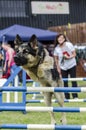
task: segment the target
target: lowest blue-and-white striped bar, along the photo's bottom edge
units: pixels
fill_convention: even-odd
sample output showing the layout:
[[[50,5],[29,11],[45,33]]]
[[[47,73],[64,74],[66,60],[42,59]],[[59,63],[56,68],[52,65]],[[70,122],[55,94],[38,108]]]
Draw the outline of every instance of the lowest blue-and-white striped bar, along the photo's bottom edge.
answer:
[[[0,129],[86,130],[86,125],[2,124]]]

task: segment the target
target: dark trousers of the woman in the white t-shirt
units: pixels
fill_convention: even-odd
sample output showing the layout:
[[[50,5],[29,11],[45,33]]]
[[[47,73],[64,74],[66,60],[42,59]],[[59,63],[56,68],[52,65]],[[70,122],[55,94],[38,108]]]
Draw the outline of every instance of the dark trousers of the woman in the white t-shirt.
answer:
[[[70,78],[76,78],[76,66],[72,67],[68,70],[61,70],[62,78],[68,78],[68,75],[70,75]],[[72,81],[72,87],[77,87],[77,82]],[[68,81],[64,81],[64,87],[68,87]],[[73,98],[78,98],[77,93],[72,93]],[[65,98],[70,99],[70,93],[65,93]]]

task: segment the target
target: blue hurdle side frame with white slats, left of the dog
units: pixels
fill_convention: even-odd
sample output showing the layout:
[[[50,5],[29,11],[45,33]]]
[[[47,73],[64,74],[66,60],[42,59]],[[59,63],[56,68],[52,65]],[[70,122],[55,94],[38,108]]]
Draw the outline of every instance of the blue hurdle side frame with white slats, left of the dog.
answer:
[[[11,88],[11,85],[10,83],[12,83],[13,79],[16,77],[16,75],[18,75],[18,73],[22,70],[22,68],[18,67],[16,68],[15,72],[13,74],[11,74],[11,76],[6,80],[6,82],[4,82],[3,85],[0,86],[0,89],[1,88]],[[17,88],[18,86],[18,80],[16,78],[15,80],[15,86],[13,86],[14,89]],[[10,85],[10,87],[9,87]],[[26,86],[26,72],[22,70],[22,84],[23,86]],[[21,86],[20,86],[21,88]],[[26,92],[24,91],[21,91],[21,97],[18,97],[19,96],[19,93],[18,91],[15,91],[13,94],[10,93],[11,91],[0,91],[0,106],[25,106],[26,104]],[[7,95],[3,95],[3,93],[7,93]],[[9,94],[9,95],[8,95]],[[11,99],[11,95],[12,95],[12,99]],[[4,100],[3,101],[3,96],[5,98],[7,98],[7,100]],[[13,101],[13,98],[14,98],[14,101]]]

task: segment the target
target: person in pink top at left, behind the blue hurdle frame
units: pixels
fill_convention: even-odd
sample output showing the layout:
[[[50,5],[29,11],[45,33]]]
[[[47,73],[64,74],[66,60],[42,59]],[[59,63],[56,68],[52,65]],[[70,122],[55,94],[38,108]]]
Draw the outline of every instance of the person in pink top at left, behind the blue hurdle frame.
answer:
[[[6,51],[6,59],[5,59],[3,71],[5,72],[6,78],[8,78],[10,74],[14,73],[17,68],[14,62],[15,51],[10,44],[4,42],[2,43],[2,48]],[[16,77],[18,79],[18,76]],[[15,85],[15,82],[16,82],[16,78],[13,80],[13,86]]]

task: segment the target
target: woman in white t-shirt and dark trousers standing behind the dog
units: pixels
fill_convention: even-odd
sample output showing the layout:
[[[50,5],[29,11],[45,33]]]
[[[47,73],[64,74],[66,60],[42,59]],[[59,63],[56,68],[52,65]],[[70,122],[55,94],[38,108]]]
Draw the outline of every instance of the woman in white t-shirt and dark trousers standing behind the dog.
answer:
[[[60,77],[76,78],[76,52],[73,44],[67,41],[64,34],[56,36],[54,59]],[[68,87],[68,81],[64,82],[64,87]],[[77,82],[72,81],[72,87],[77,87]],[[72,93],[73,98],[78,98],[77,93]],[[65,93],[65,98],[70,99],[70,94]]]

